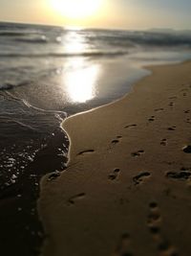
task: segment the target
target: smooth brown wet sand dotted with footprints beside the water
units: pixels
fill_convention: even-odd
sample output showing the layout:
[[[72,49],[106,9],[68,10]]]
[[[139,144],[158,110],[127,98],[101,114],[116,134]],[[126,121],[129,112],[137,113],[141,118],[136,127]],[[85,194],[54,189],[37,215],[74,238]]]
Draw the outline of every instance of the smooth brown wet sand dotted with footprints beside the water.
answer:
[[[149,67],[121,100],[68,118],[68,168],[44,176],[44,256],[191,254],[191,62]]]

